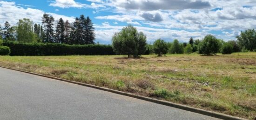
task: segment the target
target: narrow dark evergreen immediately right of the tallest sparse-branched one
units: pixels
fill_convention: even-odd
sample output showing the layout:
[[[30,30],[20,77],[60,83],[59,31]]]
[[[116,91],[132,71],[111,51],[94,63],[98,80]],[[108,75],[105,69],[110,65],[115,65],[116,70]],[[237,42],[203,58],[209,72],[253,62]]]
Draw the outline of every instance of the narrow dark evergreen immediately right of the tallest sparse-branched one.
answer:
[[[64,27],[64,21],[61,18],[56,26],[56,35],[55,35],[55,41],[56,43],[65,43],[64,42],[64,32],[65,32],[65,27]]]

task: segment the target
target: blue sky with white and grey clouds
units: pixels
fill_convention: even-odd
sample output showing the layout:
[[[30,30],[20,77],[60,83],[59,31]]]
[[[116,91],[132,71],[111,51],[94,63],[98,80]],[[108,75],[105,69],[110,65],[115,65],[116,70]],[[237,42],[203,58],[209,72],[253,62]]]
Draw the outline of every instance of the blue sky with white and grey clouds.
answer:
[[[89,16],[101,44],[111,44],[114,32],[126,25],[144,32],[149,44],[207,34],[236,40],[241,31],[256,28],[256,0],[0,0],[1,26],[23,18],[41,24],[44,13],[70,22]]]

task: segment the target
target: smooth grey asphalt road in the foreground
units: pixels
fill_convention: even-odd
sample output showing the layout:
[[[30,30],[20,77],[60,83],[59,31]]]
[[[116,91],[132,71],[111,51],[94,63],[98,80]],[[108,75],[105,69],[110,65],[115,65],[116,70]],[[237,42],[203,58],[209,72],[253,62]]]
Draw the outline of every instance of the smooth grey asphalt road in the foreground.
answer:
[[[0,120],[217,120],[128,96],[0,68]]]

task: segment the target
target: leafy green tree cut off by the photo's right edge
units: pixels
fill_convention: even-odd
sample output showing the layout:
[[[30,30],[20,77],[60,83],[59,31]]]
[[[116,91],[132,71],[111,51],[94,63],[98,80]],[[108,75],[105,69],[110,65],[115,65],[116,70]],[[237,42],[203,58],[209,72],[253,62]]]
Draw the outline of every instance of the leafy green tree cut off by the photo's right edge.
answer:
[[[253,51],[256,49],[256,31],[249,29],[242,31],[239,36],[236,37],[240,46],[244,46],[245,49]]]

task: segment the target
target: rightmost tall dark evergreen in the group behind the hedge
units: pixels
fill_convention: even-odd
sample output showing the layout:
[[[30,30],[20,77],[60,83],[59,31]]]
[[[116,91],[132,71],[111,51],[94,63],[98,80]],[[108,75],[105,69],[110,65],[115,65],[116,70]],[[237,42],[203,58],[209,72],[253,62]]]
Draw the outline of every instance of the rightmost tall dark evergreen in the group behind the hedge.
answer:
[[[95,33],[94,33],[94,26],[92,20],[87,17],[86,19],[86,44],[94,44],[95,40]]]

